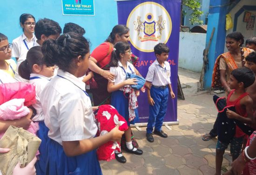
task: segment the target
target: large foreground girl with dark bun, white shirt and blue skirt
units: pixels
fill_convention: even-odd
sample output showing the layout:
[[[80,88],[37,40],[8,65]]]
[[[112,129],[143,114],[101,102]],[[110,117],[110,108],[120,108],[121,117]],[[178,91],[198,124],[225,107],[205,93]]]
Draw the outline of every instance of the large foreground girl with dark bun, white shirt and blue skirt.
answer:
[[[59,67],[40,96],[50,137],[45,174],[100,175],[95,149],[110,140],[120,140],[124,132],[117,125],[95,137],[98,129],[91,101],[84,82],[78,79],[88,70],[89,43],[83,36],[68,32],[57,40],[45,41],[42,52],[47,64]]]

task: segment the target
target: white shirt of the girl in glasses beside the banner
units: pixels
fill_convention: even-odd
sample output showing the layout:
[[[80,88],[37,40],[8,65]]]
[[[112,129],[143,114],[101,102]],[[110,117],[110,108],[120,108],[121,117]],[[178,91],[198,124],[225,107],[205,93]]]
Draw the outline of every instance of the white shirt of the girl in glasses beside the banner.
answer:
[[[129,62],[126,62],[126,65],[127,65],[127,68],[125,69],[125,71],[122,69],[123,66],[120,61],[118,61],[117,67],[110,67],[110,73],[115,74],[115,79],[110,82],[114,82],[114,84],[116,85],[126,80],[126,73],[135,74],[134,66]],[[128,87],[128,86],[125,86],[125,87]]]

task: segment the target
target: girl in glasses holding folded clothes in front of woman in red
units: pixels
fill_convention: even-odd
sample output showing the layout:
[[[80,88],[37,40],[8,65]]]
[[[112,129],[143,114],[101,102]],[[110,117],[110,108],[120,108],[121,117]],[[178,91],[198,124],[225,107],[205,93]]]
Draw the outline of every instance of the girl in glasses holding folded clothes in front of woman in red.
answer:
[[[125,131],[126,151],[141,155],[142,150],[135,148],[131,141],[130,124],[135,124],[135,118],[138,118],[138,102],[136,96],[140,91],[135,91],[129,85],[135,85],[136,79],[127,79],[127,73],[135,74],[133,64],[129,63],[131,59],[131,48],[127,42],[117,42],[110,60],[110,73],[115,75],[114,81],[108,81],[108,92],[112,92],[111,105],[123,116],[128,123],[128,130]],[[131,107],[133,106],[133,107]],[[121,152],[115,151],[115,158],[121,163],[126,162],[126,158]]]

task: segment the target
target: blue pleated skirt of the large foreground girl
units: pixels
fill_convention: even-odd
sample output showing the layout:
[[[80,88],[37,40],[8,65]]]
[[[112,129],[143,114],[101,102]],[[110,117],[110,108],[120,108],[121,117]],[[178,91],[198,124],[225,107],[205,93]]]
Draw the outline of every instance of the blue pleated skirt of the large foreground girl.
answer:
[[[50,139],[47,151],[46,175],[102,175],[96,150],[68,157],[62,145]]]

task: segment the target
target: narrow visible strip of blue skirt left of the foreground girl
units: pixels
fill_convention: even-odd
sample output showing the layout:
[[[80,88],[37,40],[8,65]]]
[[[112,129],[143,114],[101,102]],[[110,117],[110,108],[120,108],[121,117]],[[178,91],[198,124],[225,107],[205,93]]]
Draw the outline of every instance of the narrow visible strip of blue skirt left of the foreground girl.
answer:
[[[46,160],[47,160],[47,142],[49,141],[48,131],[49,129],[45,125],[44,121],[39,121],[39,130],[37,131],[36,135],[41,139],[41,144],[39,146],[40,155],[38,155],[39,160],[35,163],[36,175],[44,175],[45,174],[45,167],[46,167]]]

